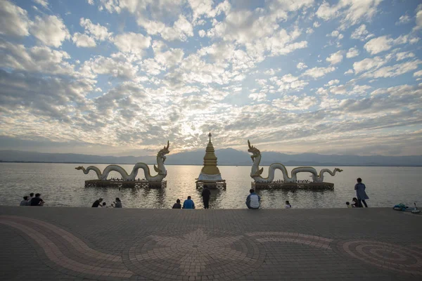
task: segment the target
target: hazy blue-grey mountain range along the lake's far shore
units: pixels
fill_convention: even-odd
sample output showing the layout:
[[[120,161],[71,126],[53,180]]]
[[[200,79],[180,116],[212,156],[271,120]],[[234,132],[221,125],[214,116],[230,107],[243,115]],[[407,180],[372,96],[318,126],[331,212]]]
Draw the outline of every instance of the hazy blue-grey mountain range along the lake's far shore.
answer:
[[[245,151],[225,148],[215,150],[219,165],[250,165],[250,154]],[[201,165],[204,150],[180,152],[167,155],[166,164]],[[97,156],[73,153],[40,153],[18,150],[0,150],[3,162],[51,162],[51,163],[96,163],[96,164],[134,164],[145,162],[155,164],[155,156]],[[320,155],[301,153],[288,155],[280,152],[262,152],[261,165],[282,163],[287,166],[422,166],[422,155],[416,156],[357,156],[357,155]]]

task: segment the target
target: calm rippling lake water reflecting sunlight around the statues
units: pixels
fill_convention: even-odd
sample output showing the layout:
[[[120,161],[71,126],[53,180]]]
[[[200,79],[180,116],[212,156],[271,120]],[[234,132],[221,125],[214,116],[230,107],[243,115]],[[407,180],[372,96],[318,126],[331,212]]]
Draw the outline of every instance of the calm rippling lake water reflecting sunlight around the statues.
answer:
[[[200,192],[196,190],[195,178],[201,166],[166,166],[167,188],[84,188],[84,181],[95,179],[91,171],[85,175],[75,170],[82,164],[21,164],[0,163],[0,192],[2,205],[18,205],[23,195],[40,192],[46,206],[90,207],[94,200],[103,197],[107,204],[120,197],[123,207],[132,208],[171,208],[177,198],[183,202],[192,196],[197,208],[202,209]],[[85,167],[89,166],[84,164]],[[107,165],[98,164],[101,170]],[[133,165],[122,165],[132,171]],[[152,166],[151,166],[152,168]],[[264,175],[268,174],[264,166]],[[289,171],[294,167],[288,167]],[[316,170],[333,167],[315,167]],[[344,171],[336,176],[326,176],[327,182],[334,183],[334,190],[260,190],[263,208],[283,208],[286,200],[294,208],[331,208],[345,207],[346,201],[354,197],[354,183],[361,177],[369,195],[369,207],[392,207],[404,202],[420,202],[422,207],[421,174],[422,167],[341,167]],[[151,169],[154,171],[153,169]],[[219,166],[227,182],[226,190],[212,190],[210,208],[238,209],[245,208],[245,197],[250,189],[250,166]],[[114,172],[113,172],[114,173]],[[110,174],[120,177],[119,174]],[[139,177],[143,177],[142,170]],[[276,179],[281,179],[281,171],[276,171]],[[310,179],[309,174],[298,174],[299,179]]]

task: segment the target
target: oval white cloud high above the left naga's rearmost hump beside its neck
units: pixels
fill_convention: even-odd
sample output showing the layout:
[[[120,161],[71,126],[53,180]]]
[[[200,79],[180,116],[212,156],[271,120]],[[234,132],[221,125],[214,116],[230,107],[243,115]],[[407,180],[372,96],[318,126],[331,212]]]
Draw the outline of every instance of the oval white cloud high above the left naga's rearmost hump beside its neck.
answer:
[[[118,34],[113,39],[113,43],[122,52],[141,56],[151,45],[151,37],[145,37],[141,33],[127,32]]]

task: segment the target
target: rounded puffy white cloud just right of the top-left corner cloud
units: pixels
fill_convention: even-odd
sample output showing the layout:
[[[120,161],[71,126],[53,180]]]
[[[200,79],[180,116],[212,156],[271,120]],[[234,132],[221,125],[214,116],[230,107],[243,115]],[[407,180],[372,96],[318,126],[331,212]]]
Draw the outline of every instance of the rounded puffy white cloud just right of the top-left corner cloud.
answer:
[[[68,28],[56,15],[36,16],[31,34],[47,46],[60,47],[63,41],[70,39]]]

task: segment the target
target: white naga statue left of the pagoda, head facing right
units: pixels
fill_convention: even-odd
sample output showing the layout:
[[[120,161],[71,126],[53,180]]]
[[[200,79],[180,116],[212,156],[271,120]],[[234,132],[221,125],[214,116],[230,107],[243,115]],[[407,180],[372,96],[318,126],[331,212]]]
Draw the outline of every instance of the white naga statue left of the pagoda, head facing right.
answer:
[[[106,169],[104,169],[103,173],[101,174],[100,169],[98,169],[96,166],[89,166],[87,169],[85,169],[83,166],[78,166],[75,169],[77,170],[82,170],[84,171],[84,174],[88,174],[89,171],[95,171],[97,176],[98,176],[98,180],[101,181],[106,181],[108,174],[110,173],[110,171],[117,171],[117,173],[119,173],[120,175],[122,175],[122,178],[124,181],[134,181],[134,179],[136,178],[136,175],[138,174],[138,169],[143,169],[143,173],[145,174],[145,178],[147,181],[162,181],[163,178],[165,178],[165,176],[167,176],[167,170],[165,169],[164,166],[164,162],[165,162],[165,155],[168,154],[169,151],[169,141],[167,141],[167,146],[165,145],[164,148],[162,148],[162,150],[160,150],[157,153],[157,166],[154,165],[154,170],[158,173],[155,176],[151,176],[150,174],[150,169],[148,167],[147,164],[145,163],[136,163],[134,166],[134,169],[132,169],[132,173],[131,174],[127,174],[127,172],[118,165],[108,165],[106,166]]]

